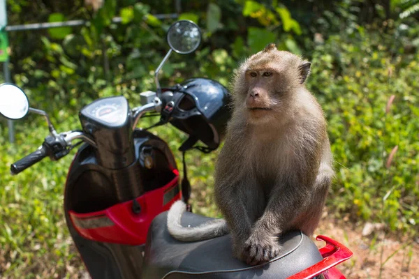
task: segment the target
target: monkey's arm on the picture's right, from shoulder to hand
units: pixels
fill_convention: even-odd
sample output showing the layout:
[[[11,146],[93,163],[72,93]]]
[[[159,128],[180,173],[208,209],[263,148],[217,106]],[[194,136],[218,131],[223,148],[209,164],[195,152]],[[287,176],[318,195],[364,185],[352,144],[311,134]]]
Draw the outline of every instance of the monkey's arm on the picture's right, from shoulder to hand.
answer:
[[[308,130],[308,129],[307,129]],[[305,131],[307,131],[305,130]],[[292,146],[292,169],[280,172],[277,176],[263,215],[254,223],[249,239],[244,243],[244,257],[248,264],[267,262],[276,257],[281,250],[278,235],[293,227],[295,221],[300,223],[314,219],[310,211],[321,211],[313,208],[313,197],[319,192],[321,186],[316,185],[316,176],[320,165],[321,144],[313,136],[314,133],[306,132],[297,135],[298,140]],[[324,193],[323,189],[321,192]],[[327,192],[326,192],[327,193]],[[323,195],[323,194],[322,194]],[[323,207],[323,202],[314,207]]]

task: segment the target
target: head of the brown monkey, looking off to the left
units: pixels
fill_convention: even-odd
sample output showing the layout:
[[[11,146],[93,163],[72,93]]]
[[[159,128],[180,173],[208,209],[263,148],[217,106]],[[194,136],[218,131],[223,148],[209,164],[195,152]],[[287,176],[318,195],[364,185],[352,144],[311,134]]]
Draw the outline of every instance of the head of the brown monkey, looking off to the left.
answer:
[[[309,65],[291,52],[272,47],[254,54],[237,71],[235,109],[241,110],[249,123],[281,119],[307,77]]]

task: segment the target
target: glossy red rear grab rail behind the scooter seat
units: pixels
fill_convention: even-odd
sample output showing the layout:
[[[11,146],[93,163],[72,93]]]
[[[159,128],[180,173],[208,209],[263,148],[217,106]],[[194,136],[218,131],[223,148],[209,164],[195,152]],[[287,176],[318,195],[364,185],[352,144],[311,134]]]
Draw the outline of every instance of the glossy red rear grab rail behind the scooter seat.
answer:
[[[308,269],[304,269],[299,273],[288,277],[288,279],[309,279],[314,276],[318,276],[321,273],[325,276],[326,279],[344,279],[346,278],[337,270],[335,267],[337,264],[350,259],[353,255],[353,252],[346,248],[343,244],[330,239],[328,236],[317,236],[317,240],[323,240],[326,242],[326,246],[319,249],[323,260],[310,266]]]

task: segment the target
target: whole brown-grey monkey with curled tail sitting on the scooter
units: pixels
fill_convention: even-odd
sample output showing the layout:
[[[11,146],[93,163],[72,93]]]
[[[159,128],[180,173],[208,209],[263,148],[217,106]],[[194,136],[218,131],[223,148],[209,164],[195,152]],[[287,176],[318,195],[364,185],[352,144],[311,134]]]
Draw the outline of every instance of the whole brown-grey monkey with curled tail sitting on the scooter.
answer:
[[[246,59],[232,81],[232,116],[215,165],[214,201],[223,214],[182,227],[175,202],[168,230],[198,241],[230,233],[233,254],[249,265],[281,252],[279,237],[318,226],[335,171],[321,105],[304,82],[311,63],[274,43]]]

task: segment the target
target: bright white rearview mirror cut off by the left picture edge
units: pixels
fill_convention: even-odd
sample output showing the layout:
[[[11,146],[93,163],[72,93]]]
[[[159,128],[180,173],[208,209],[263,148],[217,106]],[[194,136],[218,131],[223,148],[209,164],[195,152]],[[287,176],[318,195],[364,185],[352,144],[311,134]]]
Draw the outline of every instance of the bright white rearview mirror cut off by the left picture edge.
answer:
[[[18,86],[0,84],[0,114],[12,120],[22,119],[29,112],[29,100]]]

